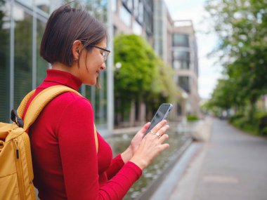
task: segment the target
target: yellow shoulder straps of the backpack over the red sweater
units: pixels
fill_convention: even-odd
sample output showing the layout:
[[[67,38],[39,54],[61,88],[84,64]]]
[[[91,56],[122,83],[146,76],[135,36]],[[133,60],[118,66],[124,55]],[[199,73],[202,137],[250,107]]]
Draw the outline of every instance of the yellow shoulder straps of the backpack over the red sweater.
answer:
[[[27,109],[27,112],[25,114],[25,119],[24,119],[24,126],[23,126],[24,130],[27,130],[34,123],[35,119],[37,119],[41,110],[44,109],[44,107],[48,104],[48,102],[53,100],[53,98],[56,98],[56,96],[62,93],[65,93],[65,92],[69,92],[69,91],[72,93],[77,93],[77,95],[81,95],[77,91],[67,86],[51,86],[49,88],[44,89],[44,91],[41,91],[32,100],[29,108]],[[27,101],[30,99],[33,93],[34,91],[26,95],[26,97],[22,100],[22,103],[20,104],[20,107],[18,109],[19,116],[22,116],[21,112],[24,111]],[[93,128],[94,128],[94,136],[96,140],[96,152],[98,152],[98,138],[97,138],[95,124],[93,124]]]

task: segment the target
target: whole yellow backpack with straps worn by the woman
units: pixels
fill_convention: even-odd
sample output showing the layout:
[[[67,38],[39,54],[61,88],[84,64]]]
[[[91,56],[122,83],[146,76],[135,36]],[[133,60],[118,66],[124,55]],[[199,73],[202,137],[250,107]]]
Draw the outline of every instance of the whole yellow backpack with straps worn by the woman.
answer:
[[[0,122],[0,199],[1,200],[30,200],[36,199],[34,193],[34,178],[32,170],[32,154],[30,150],[30,138],[26,130],[37,119],[41,110],[56,98],[67,91],[74,91],[67,86],[52,86],[41,91],[30,103],[22,121],[22,115],[28,100],[34,91],[28,93],[18,107],[11,112],[13,124]],[[98,139],[96,127],[94,127],[96,151],[98,152]]]

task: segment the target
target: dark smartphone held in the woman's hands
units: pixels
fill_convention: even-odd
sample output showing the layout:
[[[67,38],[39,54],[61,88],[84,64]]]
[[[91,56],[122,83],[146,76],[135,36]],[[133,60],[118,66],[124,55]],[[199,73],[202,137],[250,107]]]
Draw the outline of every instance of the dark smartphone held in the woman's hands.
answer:
[[[171,109],[172,105],[170,103],[162,103],[162,105],[160,105],[157,109],[156,114],[153,116],[151,124],[145,134],[149,133],[149,131],[151,131],[152,128],[154,128],[159,123],[159,121],[166,119]]]

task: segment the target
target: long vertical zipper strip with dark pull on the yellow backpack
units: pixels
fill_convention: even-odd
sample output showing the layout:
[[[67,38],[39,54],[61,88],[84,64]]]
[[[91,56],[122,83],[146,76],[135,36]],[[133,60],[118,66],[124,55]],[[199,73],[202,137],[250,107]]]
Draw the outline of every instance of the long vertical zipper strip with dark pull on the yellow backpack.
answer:
[[[17,175],[18,175],[18,189],[20,190],[20,197],[21,199],[25,199],[25,191],[23,188],[23,173],[22,173],[22,166],[21,166],[21,161],[20,161],[20,148],[18,147],[18,139],[14,139],[15,142],[15,164],[17,166]]]

